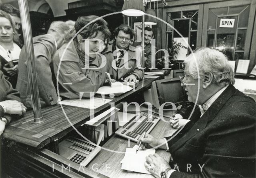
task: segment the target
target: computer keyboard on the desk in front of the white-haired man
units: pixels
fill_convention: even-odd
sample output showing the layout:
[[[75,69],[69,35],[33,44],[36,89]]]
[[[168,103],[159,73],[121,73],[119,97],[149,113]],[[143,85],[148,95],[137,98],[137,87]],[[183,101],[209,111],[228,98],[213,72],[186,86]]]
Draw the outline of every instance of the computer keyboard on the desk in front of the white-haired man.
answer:
[[[144,131],[150,133],[159,120],[159,117],[140,112],[128,123],[120,127],[115,133],[126,139],[137,142],[140,135],[142,135]]]

